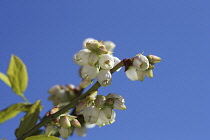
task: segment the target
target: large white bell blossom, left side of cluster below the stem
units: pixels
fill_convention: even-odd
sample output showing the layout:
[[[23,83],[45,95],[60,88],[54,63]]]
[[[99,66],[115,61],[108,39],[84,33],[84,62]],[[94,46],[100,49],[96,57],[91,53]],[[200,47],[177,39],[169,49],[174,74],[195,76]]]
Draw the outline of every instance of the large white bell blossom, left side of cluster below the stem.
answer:
[[[99,109],[93,105],[86,107],[83,112],[85,122],[90,124],[97,122],[98,115],[99,115]]]

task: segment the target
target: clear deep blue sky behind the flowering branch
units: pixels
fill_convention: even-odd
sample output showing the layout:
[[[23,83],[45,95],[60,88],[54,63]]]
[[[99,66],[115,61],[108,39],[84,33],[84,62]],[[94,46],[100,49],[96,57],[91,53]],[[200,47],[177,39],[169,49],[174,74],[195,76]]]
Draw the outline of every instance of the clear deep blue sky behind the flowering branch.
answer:
[[[11,54],[20,57],[29,73],[25,96],[41,99],[44,115],[53,107],[51,86],[79,84],[72,57],[85,38],[115,42],[120,59],[155,54],[163,61],[154,78],[132,82],[121,70],[99,89],[121,94],[127,110],[117,111],[114,124],[88,130],[85,139],[209,140],[209,6],[208,0],[1,0],[0,71]],[[21,98],[0,81],[0,109],[16,102]],[[23,115],[1,124],[0,138],[15,139]]]

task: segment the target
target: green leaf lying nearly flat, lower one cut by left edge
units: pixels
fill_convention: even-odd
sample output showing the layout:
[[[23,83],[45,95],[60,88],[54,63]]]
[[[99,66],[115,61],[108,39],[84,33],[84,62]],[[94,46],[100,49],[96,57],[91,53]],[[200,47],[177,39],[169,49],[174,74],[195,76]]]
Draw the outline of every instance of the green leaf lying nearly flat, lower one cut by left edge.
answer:
[[[24,103],[17,103],[9,106],[8,108],[0,111],[0,124],[15,117],[21,111],[28,111],[30,105]]]

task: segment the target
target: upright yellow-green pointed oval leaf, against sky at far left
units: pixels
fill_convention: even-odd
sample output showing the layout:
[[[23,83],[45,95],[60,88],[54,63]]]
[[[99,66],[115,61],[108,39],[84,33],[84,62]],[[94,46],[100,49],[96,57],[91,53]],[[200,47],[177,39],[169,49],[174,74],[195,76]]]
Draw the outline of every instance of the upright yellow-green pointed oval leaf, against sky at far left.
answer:
[[[25,64],[15,55],[11,56],[7,76],[11,83],[12,90],[17,95],[22,96],[28,85],[28,72]]]

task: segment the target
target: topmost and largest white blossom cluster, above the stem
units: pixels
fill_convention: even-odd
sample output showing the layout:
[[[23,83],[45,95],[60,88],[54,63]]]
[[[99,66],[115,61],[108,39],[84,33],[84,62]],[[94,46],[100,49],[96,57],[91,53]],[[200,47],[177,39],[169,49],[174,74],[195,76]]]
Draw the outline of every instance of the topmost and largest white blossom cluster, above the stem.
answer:
[[[110,69],[120,62],[111,52],[115,48],[115,44],[111,41],[103,43],[88,38],[84,41],[83,47],[84,49],[74,55],[74,62],[82,66],[80,75],[83,80],[80,87],[87,87],[95,78],[101,86],[109,86],[112,82]]]

